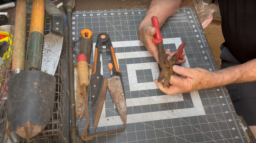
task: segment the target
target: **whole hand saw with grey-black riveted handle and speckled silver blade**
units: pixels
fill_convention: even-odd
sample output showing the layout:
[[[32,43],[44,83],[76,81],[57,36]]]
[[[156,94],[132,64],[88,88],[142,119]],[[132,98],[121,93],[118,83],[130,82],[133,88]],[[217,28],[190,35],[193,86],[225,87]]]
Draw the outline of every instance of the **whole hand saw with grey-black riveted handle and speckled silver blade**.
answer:
[[[61,54],[65,20],[51,0],[45,0],[45,12],[51,18],[51,32],[44,36],[41,71],[54,75]]]

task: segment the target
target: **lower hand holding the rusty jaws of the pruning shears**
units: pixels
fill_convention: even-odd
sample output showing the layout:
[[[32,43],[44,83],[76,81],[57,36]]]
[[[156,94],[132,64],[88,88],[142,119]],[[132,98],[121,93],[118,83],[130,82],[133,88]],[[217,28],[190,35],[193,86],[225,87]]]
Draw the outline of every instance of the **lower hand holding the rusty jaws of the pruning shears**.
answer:
[[[173,66],[174,72],[182,75],[181,77],[171,75],[170,85],[163,88],[162,82],[155,80],[157,87],[168,95],[190,92],[204,88],[212,87],[214,83],[215,73],[201,68],[187,68],[182,66]]]

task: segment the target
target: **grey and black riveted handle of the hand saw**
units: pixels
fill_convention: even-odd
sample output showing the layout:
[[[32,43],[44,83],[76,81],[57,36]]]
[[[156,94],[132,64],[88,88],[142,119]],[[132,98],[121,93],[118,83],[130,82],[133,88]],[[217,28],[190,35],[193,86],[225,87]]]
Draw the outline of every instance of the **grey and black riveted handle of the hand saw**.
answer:
[[[45,0],[45,12],[52,20],[52,33],[63,36],[64,17],[51,0]]]

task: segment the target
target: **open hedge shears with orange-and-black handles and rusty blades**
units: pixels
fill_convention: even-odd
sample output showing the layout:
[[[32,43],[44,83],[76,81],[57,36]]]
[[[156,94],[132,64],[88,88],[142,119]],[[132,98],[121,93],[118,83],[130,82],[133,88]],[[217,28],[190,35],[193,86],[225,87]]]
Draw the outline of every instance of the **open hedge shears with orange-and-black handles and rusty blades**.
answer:
[[[103,48],[103,45],[106,48]],[[109,79],[103,78],[100,74],[101,61],[100,54],[110,55],[109,70],[112,71]],[[96,131],[100,119],[101,111],[105,101],[106,90],[109,89],[110,95],[117,107],[117,111],[126,126],[126,100],[124,97],[124,85],[121,71],[118,69],[117,59],[109,35],[101,33],[97,36],[94,55],[94,71],[91,77],[91,106]]]

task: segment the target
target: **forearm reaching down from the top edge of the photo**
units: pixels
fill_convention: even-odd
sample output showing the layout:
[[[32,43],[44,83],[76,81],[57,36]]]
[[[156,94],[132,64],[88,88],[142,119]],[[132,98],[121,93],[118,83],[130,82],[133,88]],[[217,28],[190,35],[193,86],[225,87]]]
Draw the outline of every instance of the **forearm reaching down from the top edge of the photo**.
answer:
[[[162,26],[166,19],[177,12],[182,0],[152,0],[143,22],[151,22],[151,17],[156,16]]]

